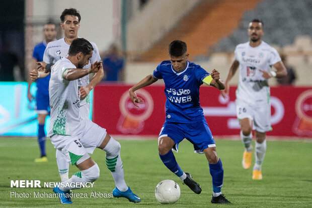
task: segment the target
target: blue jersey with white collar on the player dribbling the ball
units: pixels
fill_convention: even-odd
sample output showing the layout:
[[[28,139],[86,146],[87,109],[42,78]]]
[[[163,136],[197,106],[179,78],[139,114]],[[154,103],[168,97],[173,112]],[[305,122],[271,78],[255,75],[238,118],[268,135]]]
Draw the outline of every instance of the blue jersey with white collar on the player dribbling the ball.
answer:
[[[153,76],[165,82],[166,121],[189,123],[204,117],[199,104],[199,87],[209,75],[200,65],[190,61],[179,73],[173,69],[170,60],[157,66]]]

